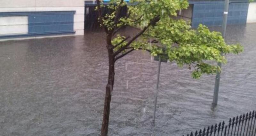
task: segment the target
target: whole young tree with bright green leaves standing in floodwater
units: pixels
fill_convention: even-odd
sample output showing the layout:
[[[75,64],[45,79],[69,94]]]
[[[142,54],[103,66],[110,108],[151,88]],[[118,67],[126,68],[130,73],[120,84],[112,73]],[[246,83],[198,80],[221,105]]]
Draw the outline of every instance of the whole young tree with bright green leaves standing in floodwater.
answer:
[[[127,15],[120,17],[122,7]],[[102,14],[102,8],[108,13]],[[220,67],[211,63],[225,63],[221,54],[239,53],[239,45],[227,45],[219,32],[211,32],[206,26],[191,29],[190,22],[175,19],[177,11],[188,7],[187,0],[110,0],[103,5],[97,0],[99,22],[106,32],[108,50],[108,83],[104,102],[101,136],[107,136],[111,95],[115,80],[115,62],[135,50],[146,50],[151,55],[168,55],[170,62],[180,67],[194,68],[193,78],[202,74],[215,74]],[[116,33],[125,26],[140,28],[135,36]],[[164,50],[163,50],[164,48]]]

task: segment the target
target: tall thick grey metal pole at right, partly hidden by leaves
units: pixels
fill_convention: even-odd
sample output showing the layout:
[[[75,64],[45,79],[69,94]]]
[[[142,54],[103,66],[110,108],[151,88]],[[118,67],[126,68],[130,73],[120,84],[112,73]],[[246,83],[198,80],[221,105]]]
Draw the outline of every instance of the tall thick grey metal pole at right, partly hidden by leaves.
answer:
[[[222,22],[222,37],[225,39],[226,37],[226,28],[227,28],[227,20],[228,20],[228,6],[229,0],[225,0],[225,7],[223,12],[223,22]],[[222,53],[221,53],[222,55]],[[218,66],[221,68],[221,63],[218,62]],[[217,72],[215,78],[215,85],[214,85],[214,93],[213,93],[213,101],[212,105],[216,106],[218,103],[218,94],[219,94],[219,87],[220,87],[220,72]]]

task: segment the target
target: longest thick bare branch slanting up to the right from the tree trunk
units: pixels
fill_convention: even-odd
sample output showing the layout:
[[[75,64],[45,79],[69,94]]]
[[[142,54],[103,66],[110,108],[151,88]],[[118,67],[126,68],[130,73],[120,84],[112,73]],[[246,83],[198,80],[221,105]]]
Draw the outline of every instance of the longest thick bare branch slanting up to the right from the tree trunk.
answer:
[[[118,51],[114,53],[114,56],[118,55],[120,52],[124,51],[126,47],[128,47],[134,40],[136,40],[139,36],[141,36],[151,25],[156,24],[160,20],[159,16],[155,16],[148,26],[144,27],[136,36],[134,36],[124,47],[120,48]]]

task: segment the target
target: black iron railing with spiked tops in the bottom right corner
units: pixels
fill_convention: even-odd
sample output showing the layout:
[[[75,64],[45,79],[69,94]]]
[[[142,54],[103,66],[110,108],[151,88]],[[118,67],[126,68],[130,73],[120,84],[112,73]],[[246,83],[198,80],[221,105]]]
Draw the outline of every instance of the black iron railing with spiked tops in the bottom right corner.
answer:
[[[228,124],[223,121],[195,133],[191,132],[187,136],[255,136],[255,120],[256,112],[253,111],[230,118]]]

